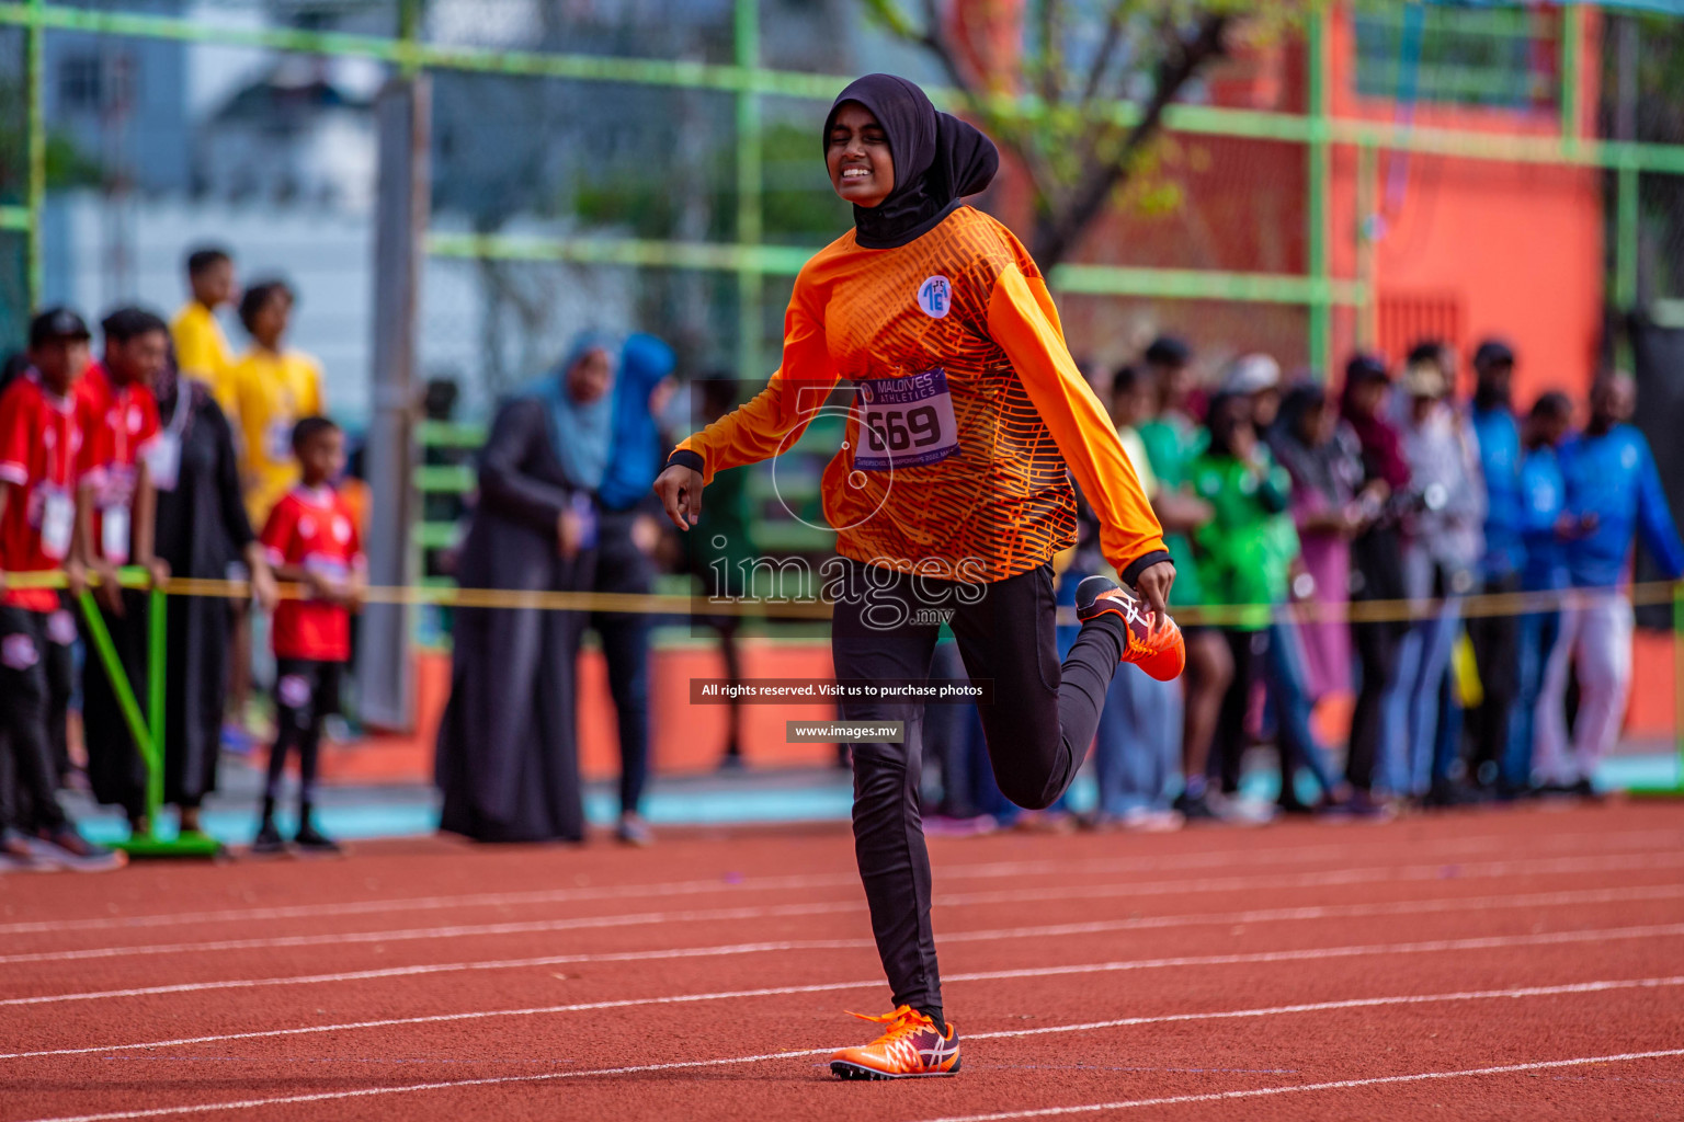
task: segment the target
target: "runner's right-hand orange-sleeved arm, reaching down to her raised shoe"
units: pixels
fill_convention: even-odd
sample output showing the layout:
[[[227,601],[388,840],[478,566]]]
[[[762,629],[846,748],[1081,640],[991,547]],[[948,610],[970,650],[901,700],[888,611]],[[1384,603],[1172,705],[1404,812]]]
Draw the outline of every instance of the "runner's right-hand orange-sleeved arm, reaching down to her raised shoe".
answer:
[[[1012,360],[1029,399],[1058,441],[1081,493],[1100,520],[1100,550],[1127,584],[1140,589],[1157,611],[1174,580],[1164,528],[1147,500],[1116,427],[1076,370],[1058,325],[1058,310],[1046,283],[1014,264],[1000,273],[989,299],[989,333]]]

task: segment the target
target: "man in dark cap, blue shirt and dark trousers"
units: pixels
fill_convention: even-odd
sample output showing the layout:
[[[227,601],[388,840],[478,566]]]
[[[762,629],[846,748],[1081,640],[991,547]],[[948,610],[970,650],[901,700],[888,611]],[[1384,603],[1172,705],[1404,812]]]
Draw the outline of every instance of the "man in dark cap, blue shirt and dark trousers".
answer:
[[[1514,419],[1509,385],[1514,350],[1500,340],[1485,340],[1474,352],[1472,422],[1479,439],[1480,474],[1485,478],[1485,553],[1480,558],[1480,592],[1504,594],[1521,587],[1526,564],[1521,500],[1521,427]],[[1509,742],[1509,713],[1519,678],[1517,616],[1475,616],[1467,621],[1474,659],[1479,664],[1482,700],[1470,710],[1468,777],[1482,787],[1497,781],[1499,760]]]

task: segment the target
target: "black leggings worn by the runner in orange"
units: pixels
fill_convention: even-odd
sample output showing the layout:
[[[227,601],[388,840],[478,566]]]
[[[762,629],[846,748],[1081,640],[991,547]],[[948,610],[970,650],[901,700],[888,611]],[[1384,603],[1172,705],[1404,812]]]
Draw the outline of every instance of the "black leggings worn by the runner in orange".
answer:
[[[946,619],[970,680],[992,685],[992,703],[978,708],[1000,791],[1029,809],[1064,794],[1100,725],[1123,651],[1122,622],[1108,614],[1084,624],[1059,664],[1051,565],[960,585],[845,558],[839,564],[845,587],[835,595],[830,638],[837,678],[926,678]],[[850,745],[854,851],[894,1004],[921,1009],[940,1024],[930,855],[918,801],[923,708],[908,700],[840,703],[842,720],[906,725],[903,744]]]

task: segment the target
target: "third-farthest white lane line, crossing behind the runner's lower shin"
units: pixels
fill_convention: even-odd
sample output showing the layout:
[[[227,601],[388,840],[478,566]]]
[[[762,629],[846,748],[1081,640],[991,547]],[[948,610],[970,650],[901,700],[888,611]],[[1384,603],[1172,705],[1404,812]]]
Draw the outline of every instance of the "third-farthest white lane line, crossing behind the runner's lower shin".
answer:
[[[1396,900],[1384,903],[1329,903],[1297,908],[1253,908],[1246,912],[1194,912],[1186,915],[1143,915],[1128,920],[1090,920],[1084,924],[1049,924],[1042,927],[995,927],[970,932],[943,932],[938,944],[990,942],[1007,939],[1051,939],[1058,935],[1096,935],[1105,932],[1154,930],[1167,927],[1224,927],[1229,924],[1275,924],[1324,918],[1362,918],[1378,915],[1431,915],[1447,912],[1485,912],[1492,908],[1551,908],[1581,903],[1620,903],[1633,900],[1684,898],[1684,885],[1637,885],[1632,888],[1590,888],[1583,892],[1543,892],[1516,897],[1442,897],[1435,900]],[[623,950],[600,954],[556,954],[534,959],[490,959],[478,962],[423,962],[416,966],[387,966],[370,971],[340,971],[335,974],[295,974],[288,977],[236,977],[212,982],[177,982],[172,986],[135,986],[130,989],[98,989],[67,994],[40,994],[35,998],[0,999],[5,1006],[56,1004],[62,1001],[104,1001],[116,998],[147,998],[155,994],[190,994],[210,989],[258,989],[269,986],[317,986],[330,982],[357,982],[382,977],[413,977],[418,974],[456,974],[463,971],[515,971],[541,966],[569,966],[579,962],[645,962],[660,959],[706,959],[739,954],[773,954],[786,950],[854,950],[871,947],[869,939],[795,939],[783,942],[744,942],[714,947],[675,947],[662,950]]]

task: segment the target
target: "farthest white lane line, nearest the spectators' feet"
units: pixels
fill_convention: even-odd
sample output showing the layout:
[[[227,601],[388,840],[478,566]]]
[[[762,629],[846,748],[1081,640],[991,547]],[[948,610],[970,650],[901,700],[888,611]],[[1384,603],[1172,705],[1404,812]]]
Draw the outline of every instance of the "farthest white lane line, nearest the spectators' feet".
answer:
[[[1426,843],[1411,843],[1411,851],[1425,853],[1467,853],[1485,851],[1512,841],[1512,834],[1482,834],[1470,838],[1443,838]],[[1645,829],[1623,831],[1615,834],[1549,834],[1541,838],[1541,844],[1558,849],[1581,851],[1583,843],[1625,844],[1664,844],[1677,846],[1684,841],[1684,831]],[[1612,848],[1612,846],[1610,846]],[[1383,846],[1248,846],[1241,851],[1216,849],[1209,853],[1180,853],[1155,858],[1093,858],[1084,861],[992,861],[980,865],[943,865],[938,875],[943,880],[985,880],[1002,876],[1036,876],[1044,873],[1128,873],[1172,868],[1207,868],[1212,865],[1280,865],[1285,861],[1346,860],[1367,849],[1394,853],[1394,844]],[[34,920],[17,924],[0,924],[0,935],[30,935],[72,930],[113,930],[126,927],[179,927],[197,924],[237,924],[244,920],[288,920],[320,918],[328,915],[387,915],[392,912],[436,912],[445,908],[475,907],[519,907],[534,903],[568,903],[578,900],[626,900],[638,897],[677,897],[697,893],[738,893],[738,892],[783,892],[790,888],[835,888],[852,886],[859,876],[849,873],[807,873],[797,876],[746,876],[739,881],[687,880],[653,885],[603,885],[576,888],[546,888],[532,892],[492,892],[468,893],[461,897],[414,897],[401,900],[349,900],[342,903],[300,903],[285,907],[254,908],[219,908],[207,912],[168,912],[160,915],[98,917],[83,920]]]

